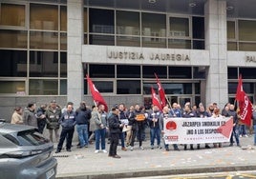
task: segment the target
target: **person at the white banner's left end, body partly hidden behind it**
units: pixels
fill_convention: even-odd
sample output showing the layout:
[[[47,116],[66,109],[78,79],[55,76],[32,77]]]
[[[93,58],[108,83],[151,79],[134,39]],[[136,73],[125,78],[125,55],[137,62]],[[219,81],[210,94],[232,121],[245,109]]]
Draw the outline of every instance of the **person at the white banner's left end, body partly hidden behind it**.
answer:
[[[163,107],[162,112],[160,113],[160,131],[163,134],[163,138],[164,138],[164,130],[163,130],[163,121],[166,120],[167,118],[170,117],[174,117],[171,115],[170,113],[170,109],[168,107]],[[163,140],[164,143],[164,140]],[[177,144],[173,144],[173,148],[174,150],[180,151],[180,149],[178,148]],[[169,151],[169,145],[168,144],[164,144],[164,149],[166,151]]]

